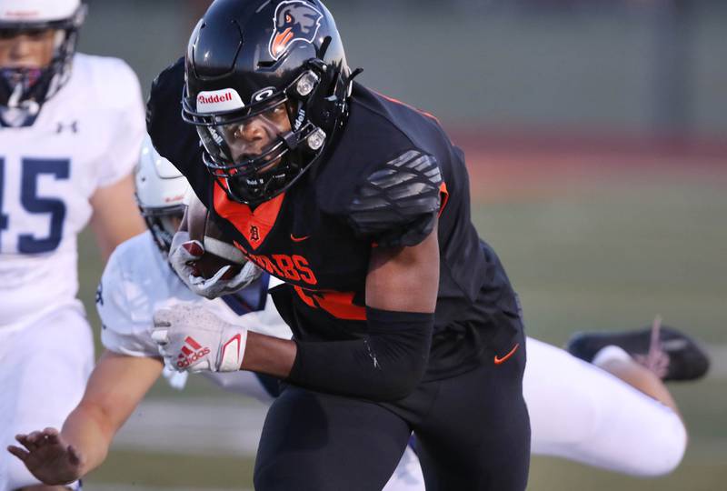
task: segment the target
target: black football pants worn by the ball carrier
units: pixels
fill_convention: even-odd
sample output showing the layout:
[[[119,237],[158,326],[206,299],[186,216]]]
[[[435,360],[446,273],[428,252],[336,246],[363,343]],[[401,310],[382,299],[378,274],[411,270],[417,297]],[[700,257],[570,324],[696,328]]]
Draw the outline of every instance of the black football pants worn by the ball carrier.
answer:
[[[520,491],[530,463],[520,348],[394,404],[287,386],[270,407],[257,491],[380,491],[413,431],[427,491]]]

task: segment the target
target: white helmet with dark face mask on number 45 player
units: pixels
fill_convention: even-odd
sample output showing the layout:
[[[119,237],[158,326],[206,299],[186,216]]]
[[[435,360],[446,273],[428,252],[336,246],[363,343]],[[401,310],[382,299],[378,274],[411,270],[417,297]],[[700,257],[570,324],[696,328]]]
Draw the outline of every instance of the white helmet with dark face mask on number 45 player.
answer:
[[[0,35],[55,29],[54,54],[49,65],[0,66],[2,123],[32,125],[41,105],[68,81],[85,12],[81,0],[0,0]]]

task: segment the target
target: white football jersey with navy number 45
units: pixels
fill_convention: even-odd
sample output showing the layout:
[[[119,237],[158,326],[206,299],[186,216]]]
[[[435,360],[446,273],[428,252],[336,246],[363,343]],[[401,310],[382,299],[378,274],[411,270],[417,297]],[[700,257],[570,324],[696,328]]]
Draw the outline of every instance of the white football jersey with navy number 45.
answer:
[[[75,300],[89,198],[132,172],[144,137],[123,61],[75,55],[67,84],[27,127],[0,127],[0,328]]]

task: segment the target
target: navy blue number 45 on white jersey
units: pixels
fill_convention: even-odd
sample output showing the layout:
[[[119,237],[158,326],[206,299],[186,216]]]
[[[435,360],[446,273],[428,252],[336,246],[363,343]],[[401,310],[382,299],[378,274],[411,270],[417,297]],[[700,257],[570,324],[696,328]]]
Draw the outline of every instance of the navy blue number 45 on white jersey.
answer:
[[[65,203],[60,198],[38,196],[38,181],[41,175],[51,175],[56,180],[70,176],[68,159],[23,159],[20,204],[28,213],[50,215],[51,226],[45,236],[32,234],[18,236],[17,248],[22,254],[40,254],[54,251],[61,243]],[[3,190],[5,189],[5,160],[0,158],[0,231],[8,227],[8,215],[2,213]]]

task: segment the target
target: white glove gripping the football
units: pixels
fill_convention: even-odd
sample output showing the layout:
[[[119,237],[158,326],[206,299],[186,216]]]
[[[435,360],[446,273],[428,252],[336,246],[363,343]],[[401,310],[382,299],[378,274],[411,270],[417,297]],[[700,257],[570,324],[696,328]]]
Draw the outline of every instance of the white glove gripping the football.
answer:
[[[205,298],[217,298],[243,289],[262,274],[254,263],[247,261],[240,272],[230,279],[222,279],[233,266],[221,267],[211,278],[194,275],[194,263],[204,255],[204,246],[198,240],[190,240],[189,232],[184,230],[174,234],[169,253],[169,264],[192,292]]]

